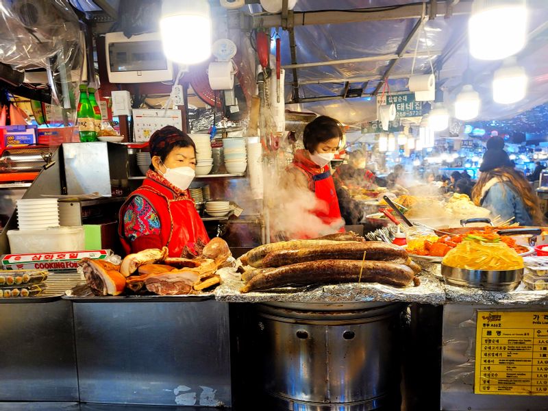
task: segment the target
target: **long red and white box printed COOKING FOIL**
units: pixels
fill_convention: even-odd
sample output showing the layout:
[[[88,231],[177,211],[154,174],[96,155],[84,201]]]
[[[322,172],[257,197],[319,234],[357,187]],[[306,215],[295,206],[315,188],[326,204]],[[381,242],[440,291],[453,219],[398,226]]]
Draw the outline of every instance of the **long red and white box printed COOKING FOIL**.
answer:
[[[82,258],[104,260],[112,251],[66,251],[58,253],[27,253],[5,254],[2,256],[1,269],[3,270],[49,270],[49,271],[76,271],[78,261]]]

